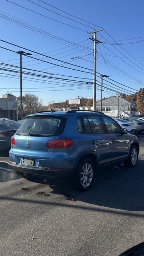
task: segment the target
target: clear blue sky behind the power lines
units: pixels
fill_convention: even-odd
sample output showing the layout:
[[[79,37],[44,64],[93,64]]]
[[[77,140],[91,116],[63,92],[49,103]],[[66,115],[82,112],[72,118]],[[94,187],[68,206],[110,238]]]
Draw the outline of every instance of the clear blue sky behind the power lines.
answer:
[[[89,1],[87,0],[83,0],[83,1],[82,0],[77,0],[77,1],[76,0],[73,0],[73,1],[44,0],[44,1],[61,10],[64,10],[75,16],[78,16],[83,20],[87,20],[93,24],[103,27],[105,31],[108,32],[108,34],[110,34],[110,36],[112,36],[112,38],[114,38],[114,40],[116,41],[129,39],[129,38],[138,38],[142,36],[143,38],[127,40],[122,42],[134,42],[138,40],[144,40],[144,27],[143,27],[144,1],[143,0],[137,0],[137,1],[136,0],[120,0],[120,1],[116,1],[116,0],[109,0],[109,1],[108,0],[101,0],[101,1],[100,0],[96,0],[96,1],[94,0],[89,0]],[[85,48],[84,52],[82,51],[82,48],[80,47],[77,48],[79,45],[75,46],[76,49],[70,48],[70,47],[61,49],[66,47],[67,45],[63,45],[60,42],[55,42],[51,40],[51,38],[43,37],[39,34],[36,34],[30,30],[27,30],[26,28],[20,27],[17,24],[14,24],[0,17],[0,25],[1,25],[0,38],[2,40],[12,42],[14,44],[23,46],[25,48],[34,50],[39,53],[49,52],[47,53],[48,56],[55,55],[53,56],[53,58],[59,58],[59,60],[64,60],[66,62],[71,61],[71,57],[76,57],[76,56],[83,57],[89,54],[88,56],[85,57],[85,60],[77,59],[71,63],[75,65],[83,66],[89,69],[93,69],[93,63],[92,63],[93,42],[91,40],[87,40],[89,39],[89,35],[87,35],[87,31],[92,31],[93,30],[92,28],[89,28],[81,24],[77,24],[75,22],[72,22],[71,20],[67,20],[66,18],[58,16],[57,14],[54,14],[32,3],[32,2],[35,2],[45,8],[49,8],[49,10],[53,10],[55,12],[58,12],[59,14],[62,14],[64,16],[77,20],[76,18],[68,16],[67,14],[62,13],[59,10],[55,10],[50,6],[47,6],[46,4],[40,2],[39,0],[32,0],[32,2],[29,2],[28,0],[12,0],[12,2],[25,6],[26,8],[39,12],[45,16],[49,16],[50,18],[57,19],[61,22],[67,23],[71,26],[81,28],[81,30],[69,27],[64,24],[60,24],[59,22],[50,20],[36,13],[32,13],[10,2],[7,2],[6,0],[1,0],[0,13],[4,14],[4,12],[6,12],[9,15],[12,15],[18,19],[23,20],[24,22],[28,22],[31,25],[36,26],[37,28],[40,28],[41,30],[44,30],[50,34],[55,35],[56,37],[61,37],[73,43],[82,42],[81,45],[88,48]],[[77,21],[83,24],[87,24],[81,20],[77,20]],[[92,26],[90,24],[87,24],[87,25]],[[96,26],[95,27],[92,26],[92,27],[99,29]],[[109,42],[112,41],[112,39],[108,36],[108,34],[106,34],[105,31],[99,33],[97,35],[97,39],[103,42],[105,40],[102,36],[104,36]],[[56,38],[55,40],[57,41]],[[10,48],[14,51],[23,50],[22,48],[11,46],[3,42],[0,42],[0,46]],[[97,72],[101,74],[107,74],[111,79],[116,80],[122,84],[125,84],[131,88],[138,90],[139,88],[143,87],[142,82],[144,81],[144,50],[143,50],[144,42],[139,42],[139,43],[137,42],[135,44],[124,44],[122,45],[122,47],[128,53],[130,53],[132,57],[135,57],[136,60],[138,60],[140,63],[138,63],[133,58],[130,58],[130,59],[125,58],[124,55],[126,57],[131,57],[131,56],[128,55],[128,53],[125,52],[122,48],[120,48],[120,46],[118,45],[111,46],[110,44],[102,43],[102,44],[99,44],[99,46],[97,46],[97,52],[98,52],[97,53]],[[120,52],[118,52],[116,49],[118,49]],[[104,58],[101,56],[101,53],[103,54]],[[118,57],[116,57],[114,54],[122,57],[121,59],[123,61],[120,60]],[[34,55],[36,54],[33,54],[33,56]],[[65,55],[68,55],[68,56],[65,56]],[[12,65],[14,64],[19,65],[18,58],[19,58],[18,54],[9,52],[2,48],[0,49],[0,62],[12,64]],[[36,58],[43,58],[43,56],[39,55],[39,56],[36,56]],[[55,63],[55,64],[61,64],[60,62],[56,60],[50,60],[49,58],[45,58],[44,60],[50,61],[51,63]],[[122,73],[119,72],[118,70],[117,71],[114,70],[112,66],[110,67],[108,65],[108,61],[116,65],[118,68],[121,68],[128,74],[134,76],[136,79],[141,80],[141,82],[131,79],[130,77],[128,78],[128,76],[122,75]],[[130,67],[127,63],[133,66],[134,68],[136,68],[137,70]],[[63,66],[76,68],[66,64]],[[28,57],[23,57],[23,67],[32,68],[36,70],[47,69],[45,70],[46,72],[52,72],[54,74],[63,74],[63,75],[69,75],[69,76],[77,76],[81,78],[88,78],[89,79],[88,81],[92,81],[91,79],[93,78],[93,74],[77,72],[75,70],[69,70],[61,67],[55,67],[52,64],[40,62],[37,60],[32,60]],[[77,68],[77,69],[92,73],[92,71],[90,70],[85,70],[82,68]],[[0,71],[0,72],[3,72],[3,71]],[[8,74],[8,72],[6,73]],[[0,96],[2,96],[2,94],[4,94],[7,91],[12,92],[16,96],[19,96],[20,92],[18,92],[18,90],[20,88],[20,81],[18,77],[17,79],[14,79],[11,77],[9,78],[2,77],[2,74],[0,75],[1,75]],[[79,80],[79,81],[86,80],[81,78],[79,79],[72,78],[72,79]],[[97,78],[97,79],[100,80],[100,78]],[[88,88],[86,84],[76,83],[75,88],[73,88],[73,90],[67,90],[67,89],[72,89],[72,87],[69,87],[69,83],[67,83],[67,87],[62,87],[62,84],[58,84],[57,82],[51,83],[50,81],[48,81],[48,83],[49,84],[23,80],[23,91],[24,91],[23,94],[25,94],[27,91],[29,92],[31,91],[32,93],[34,92],[37,96],[39,96],[39,98],[43,99],[43,104],[47,104],[48,102],[51,102],[51,101],[55,101],[55,102],[62,101],[62,100],[65,100],[66,98],[67,99],[77,98],[77,95],[79,95],[80,97],[82,96],[85,96],[88,98],[93,97],[92,85],[89,85],[89,88]],[[117,88],[116,90],[120,90],[120,88],[118,88],[117,85],[118,84],[111,85],[111,86],[114,86],[115,88]],[[58,87],[58,86],[61,86],[61,87]],[[4,90],[4,92],[2,92],[2,90]],[[48,90],[55,90],[55,91],[50,92]],[[56,91],[56,90],[59,90],[59,91]],[[124,87],[122,87],[122,90],[124,91]],[[131,91],[134,92],[134,90],[132,89]],[[127,91],[126,93],[129,94],[130,92]],[[103,91],[103,96],[111,96],[111,94],[112,92],[108,93],[107,90]],[[100,98],[100,91],[97,90],[97,99],[99,98]]]

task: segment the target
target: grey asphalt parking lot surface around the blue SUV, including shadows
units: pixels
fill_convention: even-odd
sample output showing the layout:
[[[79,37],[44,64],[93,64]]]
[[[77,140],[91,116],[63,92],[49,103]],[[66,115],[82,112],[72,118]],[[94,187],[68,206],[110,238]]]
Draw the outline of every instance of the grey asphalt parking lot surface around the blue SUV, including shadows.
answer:
[[[20,178],[1,152],[0,256],[118,256],[144,242],[144,134],[138,139],[138,165],[100,170],[85,193],[70,181]]]

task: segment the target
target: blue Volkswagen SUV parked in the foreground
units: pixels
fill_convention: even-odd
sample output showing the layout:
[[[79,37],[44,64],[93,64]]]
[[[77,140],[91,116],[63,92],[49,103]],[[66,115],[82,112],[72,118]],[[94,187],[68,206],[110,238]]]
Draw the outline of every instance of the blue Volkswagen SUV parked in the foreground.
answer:
[[[28,115],[11,139],[9,166],[28,178],[73,178],[88,190],[96,170],[138,162],[139,142],[109,116],[94,111],[38,112]]]

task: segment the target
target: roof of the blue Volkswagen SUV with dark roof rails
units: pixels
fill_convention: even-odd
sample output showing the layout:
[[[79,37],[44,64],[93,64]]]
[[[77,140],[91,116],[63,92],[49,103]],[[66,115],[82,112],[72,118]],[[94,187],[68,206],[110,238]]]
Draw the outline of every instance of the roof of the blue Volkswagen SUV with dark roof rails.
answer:
[[[68,115],[69,116],[71,116],[71,115],[76,115],[76,116],[83,116],[83,115],[87,115],[87,114],[89,114],[89,115],[95,115],[95,114],[97,114],[97,115],[104,115],[105,116],[105,114],[104,113],[102,113],[102,112],[94,112],[94,111],[89,111],[89,110],[87,110],[87,111],[83,111],[83,110],[81,110],[81,111],[73,111],[73,110],[71,110],[71,111],[55,111],[55,112],[38,112],[38,113],[36,113],[36,114],[30,114],[30,115],[28,115],[27,117],[30,117],[30,116],[64,116],[64,117],[67,117]]]

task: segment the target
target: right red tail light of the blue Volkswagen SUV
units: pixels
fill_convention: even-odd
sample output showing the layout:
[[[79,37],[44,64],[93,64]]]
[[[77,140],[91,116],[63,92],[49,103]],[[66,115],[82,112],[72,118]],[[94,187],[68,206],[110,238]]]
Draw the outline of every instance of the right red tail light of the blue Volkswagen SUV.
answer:
[[[70,148],[71,146],[73,146],[71,139],[48,140],[46,144],[47,148]]]

